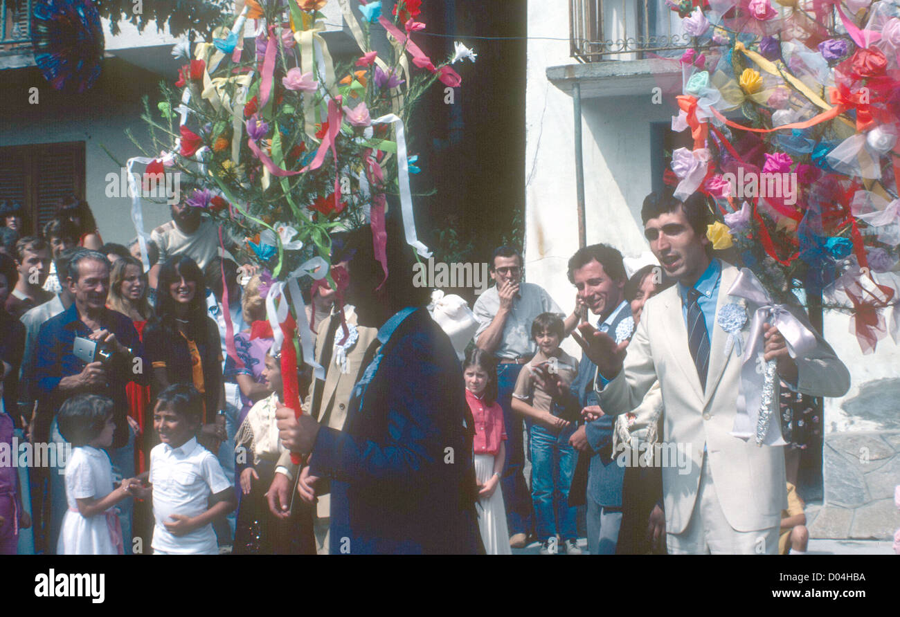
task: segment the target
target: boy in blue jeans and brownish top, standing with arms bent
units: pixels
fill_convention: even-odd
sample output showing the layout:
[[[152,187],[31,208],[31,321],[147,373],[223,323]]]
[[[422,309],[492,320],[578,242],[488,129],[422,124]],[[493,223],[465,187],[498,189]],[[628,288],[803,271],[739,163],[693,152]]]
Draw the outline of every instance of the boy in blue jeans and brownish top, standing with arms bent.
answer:
[[[531,447],[531,498],[541,554],[557,552],[556,536],[566,554],[581,554],[576,544],[575,508],[569,505],[569,487],[577,453],[569,444],[575,425],[554,416],[553,398],[536,383],[536,371],[555,374],[568,388],[578,374],[578,361],[560,348],[565,326],[554,313],[541,313],[531,324],[537,344],[535,357],[518,374],[512,408],[525,417]]]

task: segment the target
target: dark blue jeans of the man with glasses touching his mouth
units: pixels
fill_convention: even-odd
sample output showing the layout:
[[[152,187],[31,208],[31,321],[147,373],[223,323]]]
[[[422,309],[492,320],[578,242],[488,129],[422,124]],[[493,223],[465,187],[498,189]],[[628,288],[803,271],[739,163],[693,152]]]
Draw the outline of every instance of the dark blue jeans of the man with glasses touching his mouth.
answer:
[[[532,531],[531,496],[525,483],[525,448],[522,443],[522,418],[512,410],[512,391],[516,389],[518,373],[522,364],[500,364],[497,367],[497,402],[503,408],[503,423],[506,426],[506,461],[500,487],[507,510],[509,534],[528,534]]]

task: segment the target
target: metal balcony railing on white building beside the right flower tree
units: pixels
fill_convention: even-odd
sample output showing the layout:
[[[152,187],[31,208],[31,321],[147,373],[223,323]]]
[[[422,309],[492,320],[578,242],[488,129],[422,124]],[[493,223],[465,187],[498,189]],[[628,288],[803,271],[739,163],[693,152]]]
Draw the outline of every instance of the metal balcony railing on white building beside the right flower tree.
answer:
[[[640,59],[690,44],[678,13],[662,0],[569,0],[569,19],[572,57],[580,62]]]

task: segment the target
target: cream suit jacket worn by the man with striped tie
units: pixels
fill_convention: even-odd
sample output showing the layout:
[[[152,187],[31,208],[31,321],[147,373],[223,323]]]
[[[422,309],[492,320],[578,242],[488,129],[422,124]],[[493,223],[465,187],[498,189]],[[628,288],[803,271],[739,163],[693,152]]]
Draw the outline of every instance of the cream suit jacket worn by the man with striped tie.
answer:
[[[716,315],[723,306],[739,299],[728,295],[740,271],[722,264]],[[756,306],[748,304],[743,327],[743,348]],[[810,330],[802,309],[788,307]],[[665,407],[662,426],[664,447],[678,448],[688,464],[663,461],[662,487],[666,531],[684,532],[697,498],[704,447],[716,486],[716,496],[725,519],[739,532],[777,526],[787,506],[787,483],[783,447],[744,442],[730,433],[734,426],[736,399],[741,381],[743,356],[731,351],[725,357],[728,334],[716,322],[710,336],[707,391],[700,385],[688,347],[688,330],[678,285],[648,300],[635,336],[628,345],[625,367],[605,389],[599,390],[600,406],[610,414],[638,407],[644,393],[659,380]],[[850,389],[850,373],[825,341],[804,358],[796,358],[797,390],[818,397],[840,397]],[[761,378],[762,379],[762,378]],[[779,422],[779,415],[772,416]]]

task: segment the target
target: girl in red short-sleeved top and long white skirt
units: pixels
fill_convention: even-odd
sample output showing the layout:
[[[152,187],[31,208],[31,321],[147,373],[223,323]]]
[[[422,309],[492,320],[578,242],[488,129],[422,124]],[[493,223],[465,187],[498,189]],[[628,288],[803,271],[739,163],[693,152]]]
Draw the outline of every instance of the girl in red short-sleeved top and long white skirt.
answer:
[[[491,353],[474,348],[463,363],[465,400],[475,424],[473,450],[478,482],[478,527],[488,555],[509,555],[509,529],[500,477],[506,459],[507,439],[503,408],[497,402],[497,361]]]

